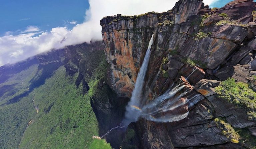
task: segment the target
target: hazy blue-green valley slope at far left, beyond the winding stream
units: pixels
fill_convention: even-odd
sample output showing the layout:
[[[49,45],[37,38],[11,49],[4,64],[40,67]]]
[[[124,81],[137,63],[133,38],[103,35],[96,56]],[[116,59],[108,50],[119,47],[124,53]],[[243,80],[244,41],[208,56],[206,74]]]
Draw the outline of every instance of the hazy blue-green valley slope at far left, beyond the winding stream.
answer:
[[[12,100],[14,97],[27,92],[28,82],[36,71],[37,65],[33,65],[0,84],[0,149],[17,148],[28,122],[36,114],[32,103],[33,96],[20,97],[19,102]],[[13,103],[6,104],[8,101]]]

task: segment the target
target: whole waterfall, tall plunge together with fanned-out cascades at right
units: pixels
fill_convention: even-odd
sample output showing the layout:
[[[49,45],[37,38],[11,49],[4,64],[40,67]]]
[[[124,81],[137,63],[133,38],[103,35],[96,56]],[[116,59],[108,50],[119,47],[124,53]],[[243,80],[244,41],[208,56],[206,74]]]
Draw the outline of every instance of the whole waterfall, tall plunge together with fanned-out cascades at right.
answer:
[[[126,106],[125,119],[120,126],[126,127],[131,122],[136,122],[139,117],[155,122],[179,121],[187,117],[191,106],[204,98],[199,94],[186,97],[186,93],[190,90],[182,91],[185,85],[181,83],[176,87],[169,88],[163,95],[156,97],[153,101],[147,104],[142,103],[145,102],[142,100],[142,91],[153,44],[153,36],[150,39],[145,58],[138,73],[131,100]]]

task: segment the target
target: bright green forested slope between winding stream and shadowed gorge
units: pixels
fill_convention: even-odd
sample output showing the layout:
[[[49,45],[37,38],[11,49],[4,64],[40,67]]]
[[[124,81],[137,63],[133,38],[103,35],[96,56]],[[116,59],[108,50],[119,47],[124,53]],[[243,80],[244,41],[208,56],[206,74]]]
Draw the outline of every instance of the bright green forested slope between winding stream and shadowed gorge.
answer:
[[[90,98],[83,97],[60,67],[34,90],[39,113],[24,133],[20,148],[82,148],[97,135],[97,120]]]

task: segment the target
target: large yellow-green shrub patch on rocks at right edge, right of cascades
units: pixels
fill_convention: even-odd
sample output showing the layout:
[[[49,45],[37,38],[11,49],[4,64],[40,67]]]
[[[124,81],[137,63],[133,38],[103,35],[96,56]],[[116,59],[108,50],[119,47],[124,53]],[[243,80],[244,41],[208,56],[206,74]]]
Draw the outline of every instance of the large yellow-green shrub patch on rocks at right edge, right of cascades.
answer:
[[[235,82],[233,78],[222,81],[215,87],[219,97],[245,108],[249,119],[256,120],[256,92],[249,88],[249,84]]]

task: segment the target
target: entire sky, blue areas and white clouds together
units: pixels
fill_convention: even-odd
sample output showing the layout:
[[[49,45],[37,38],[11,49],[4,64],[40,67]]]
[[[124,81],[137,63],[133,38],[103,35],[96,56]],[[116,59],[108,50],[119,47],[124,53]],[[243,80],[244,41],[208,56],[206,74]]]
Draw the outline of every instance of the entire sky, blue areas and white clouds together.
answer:
[[[231,0],[204,0],[222,7]],[[177,0],[0,0],[0,66],[67,45],[102,40],[100,20],[172,9]]]

